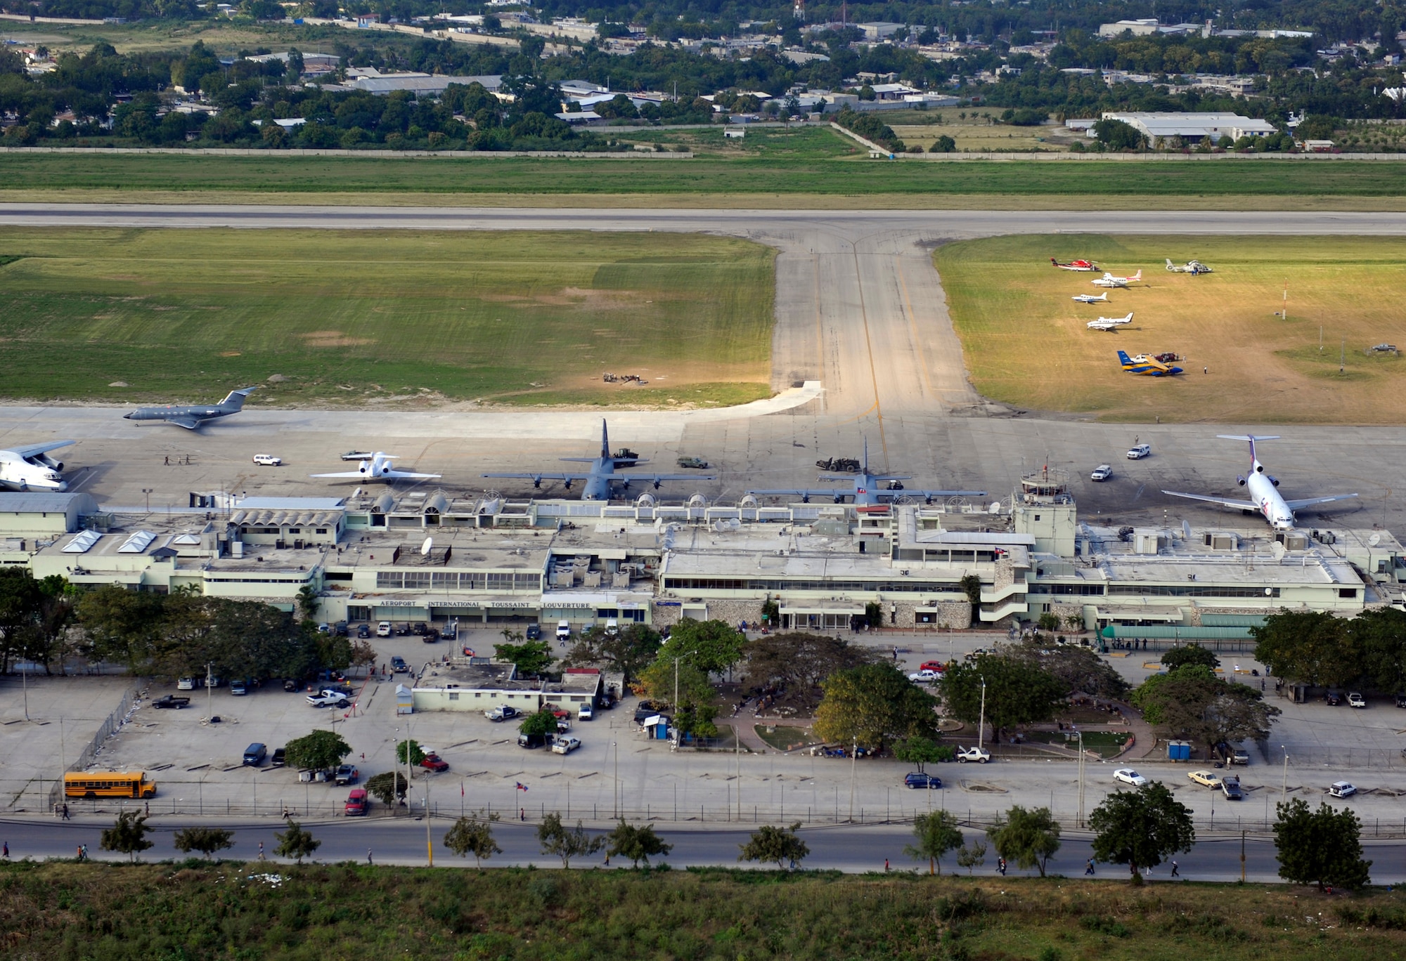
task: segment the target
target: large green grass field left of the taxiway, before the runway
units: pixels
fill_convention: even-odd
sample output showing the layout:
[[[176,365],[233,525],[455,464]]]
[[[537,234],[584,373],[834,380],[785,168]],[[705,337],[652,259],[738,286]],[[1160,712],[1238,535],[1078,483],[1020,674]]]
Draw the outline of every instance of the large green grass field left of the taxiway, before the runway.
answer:
[[[0,396],[754,400],[772,259],[688,235],[0,228]]]

